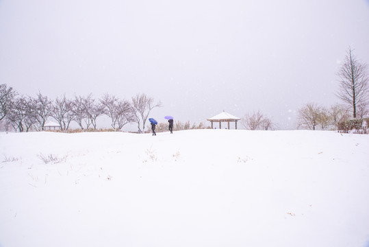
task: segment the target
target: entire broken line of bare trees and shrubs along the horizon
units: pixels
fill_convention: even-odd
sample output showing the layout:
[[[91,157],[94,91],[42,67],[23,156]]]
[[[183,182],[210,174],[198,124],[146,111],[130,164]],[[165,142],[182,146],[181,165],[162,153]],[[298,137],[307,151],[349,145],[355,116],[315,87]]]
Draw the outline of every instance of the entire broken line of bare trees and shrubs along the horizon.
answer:
[[[358,60],[349,47],[342,66],[338,71],[339,87],[335,95],[340,104],[326,108],[319,104],[309,103],[297,110],[297,128],[310,130],[344,130],[348,131],[369,122],[369,79],[368,66]],[[18,95],[6,84],[0,84],[0,124],[5,129],[12,127],[19,132],[29,131],[31,128],[44,130],[49,117],[53,117],[62,131],[68,130],[75,121],[82,131],[97,130],[97,118],[106,115],[110,118],[110,127],[120,130],[128,123],[136,123],[138,132],[145,131],[145,125],[151,110],[161,107],[162,103],[155,102],[152,97],[144,93],[131,97],[131,100],[120,99],[114,95],[105,94],[100,99],[92,95],[76,96],[67,99],[65,95],[55,100],[38,93],[36,97]],[[244,115],[240,121],[247,130],[275,130],[277,125],[270,117],[261,111]],[[158,130],[165,130],[165,124],[158,124]],[[189,122],[177,121],[175,130],[191,128],[208,128],[200,123],[190,126]]]

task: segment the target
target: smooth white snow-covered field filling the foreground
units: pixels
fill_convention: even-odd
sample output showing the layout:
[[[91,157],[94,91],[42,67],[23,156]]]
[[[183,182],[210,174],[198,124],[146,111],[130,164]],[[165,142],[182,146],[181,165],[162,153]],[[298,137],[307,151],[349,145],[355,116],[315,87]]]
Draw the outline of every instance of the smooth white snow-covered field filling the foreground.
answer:
[[[0,133],[0,161],[1,247],[369,246],[369,135]]]

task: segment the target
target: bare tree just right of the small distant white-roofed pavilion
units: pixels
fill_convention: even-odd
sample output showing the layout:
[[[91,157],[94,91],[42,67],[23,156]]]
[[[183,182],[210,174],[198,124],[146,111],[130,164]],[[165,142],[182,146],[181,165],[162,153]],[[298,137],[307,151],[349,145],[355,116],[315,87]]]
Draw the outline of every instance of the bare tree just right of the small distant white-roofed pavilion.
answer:
[[[71,100],[66,99],[65,95],[57,97],[55,104],[53,104],[52,117],[58,121],[62,131],[68,130],[69,124],[74,119],[71,104]]]

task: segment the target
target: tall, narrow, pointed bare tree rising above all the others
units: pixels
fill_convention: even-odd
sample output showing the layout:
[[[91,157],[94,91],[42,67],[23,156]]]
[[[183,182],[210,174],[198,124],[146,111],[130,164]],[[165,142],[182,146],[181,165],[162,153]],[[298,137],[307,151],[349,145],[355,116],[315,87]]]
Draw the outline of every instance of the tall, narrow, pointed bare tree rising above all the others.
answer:
[[[346,51],[344,64],[338,71],[340,87],[337,96],[350,106],[353,118],[357,117],[357,108],[365,109],[368,104],[368,72],[367,65],[361,63],[351,47]]]

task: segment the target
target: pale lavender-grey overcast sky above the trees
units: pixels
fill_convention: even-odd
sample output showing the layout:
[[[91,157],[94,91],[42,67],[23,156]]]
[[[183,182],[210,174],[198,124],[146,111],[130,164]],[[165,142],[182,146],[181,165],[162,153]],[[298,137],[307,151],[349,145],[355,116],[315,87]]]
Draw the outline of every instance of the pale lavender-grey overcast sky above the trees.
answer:
[[[151,117],[205,121],[338,102],[351,46],[369,64],[369,0],[0,0],[0,84],[161,100]]]

